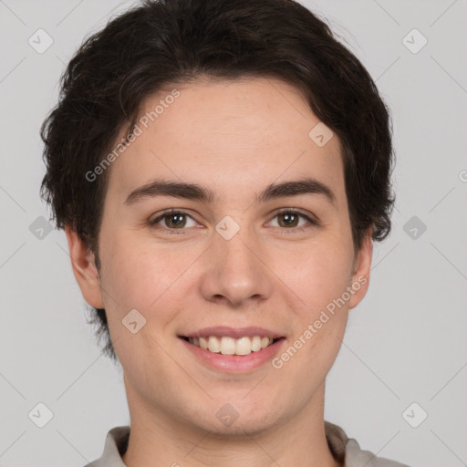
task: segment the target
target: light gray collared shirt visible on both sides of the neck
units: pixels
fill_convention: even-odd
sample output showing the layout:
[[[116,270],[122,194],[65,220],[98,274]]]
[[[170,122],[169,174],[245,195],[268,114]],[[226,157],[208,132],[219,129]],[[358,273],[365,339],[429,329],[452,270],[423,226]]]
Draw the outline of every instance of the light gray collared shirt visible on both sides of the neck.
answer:
[[[389,461],[384,457],[376,457],[370,451],[360,449],[358,442],[348,438],[339,426],[325,420],[325,432],[329,450],[334,459],[344,467],[409,467],[400,462]],[[127,451],[130,437],[130,426],[112,428],[107,438],[102,456],[85,467],[126,467],[121,455]]]

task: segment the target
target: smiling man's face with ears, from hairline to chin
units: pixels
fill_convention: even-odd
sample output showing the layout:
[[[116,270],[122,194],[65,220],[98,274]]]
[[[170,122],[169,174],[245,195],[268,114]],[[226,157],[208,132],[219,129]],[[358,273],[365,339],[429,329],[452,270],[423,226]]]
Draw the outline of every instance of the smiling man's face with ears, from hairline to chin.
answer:
[[[219,433],[272,428],[318,407],[367,290],[371,242],[354,250],[339,140],[309,136],[319,120],[295,88],[176,88],[145,102],[141,116],[165,105],[108,169],[100,275],[84,259],[75,274],[106,309],[130,412]],[[230,338],[204,349],[190,336]],[[280,338],[254,351],[233,339],[254,336]]]

